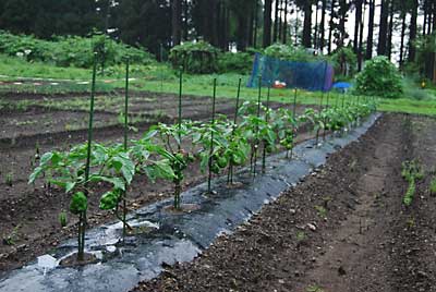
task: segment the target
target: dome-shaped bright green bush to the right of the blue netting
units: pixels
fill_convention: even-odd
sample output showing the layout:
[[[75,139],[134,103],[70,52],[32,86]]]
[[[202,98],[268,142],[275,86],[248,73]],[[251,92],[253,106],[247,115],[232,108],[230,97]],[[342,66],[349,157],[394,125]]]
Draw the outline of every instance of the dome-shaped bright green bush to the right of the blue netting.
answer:
[[[386,98],[401,97],[403,88],[397,68],[384,56],[365,62],[355,77],[355,92],[360,95]]]

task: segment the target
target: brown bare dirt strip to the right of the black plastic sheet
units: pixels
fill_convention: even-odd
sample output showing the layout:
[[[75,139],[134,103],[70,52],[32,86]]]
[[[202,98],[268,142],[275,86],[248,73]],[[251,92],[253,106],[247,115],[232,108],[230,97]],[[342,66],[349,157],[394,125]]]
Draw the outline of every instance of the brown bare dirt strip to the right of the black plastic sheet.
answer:
[[[435,125],[384,115],[238,232],[136,291],[436,291]],[[401,163],[413,158],[427,175],[407,208]]]

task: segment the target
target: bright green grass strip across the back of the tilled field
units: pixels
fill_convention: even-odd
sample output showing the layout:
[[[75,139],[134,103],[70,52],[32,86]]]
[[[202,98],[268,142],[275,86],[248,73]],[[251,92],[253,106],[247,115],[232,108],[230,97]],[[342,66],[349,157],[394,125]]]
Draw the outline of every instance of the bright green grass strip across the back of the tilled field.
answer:
[[[124,68],[122,65],[113,66],[107,70],[106,76],[98,76],[97,90],[110,92],[124,86]],[[78,68],[60,68],[52,64],[41,62],[26,62],[19,58],[0,54],[0,81],[16,81],[17,77],[39,77],[53,78],[51,83],[59,83],[56,86],[44,84],[35,86],[32,83],[23,85],[2,84],[0,92],[15,93],[41,93],[41,94],[58,94],[58,93],[74,93],[89,92],[90,84],[77,84],[89,82],[92,72],[87,69]],[[148,90],[154,93],[179,93],[178,72],[172,70],[169,64],[154,63],[149,65],[134,65],[131,70],[131,76],[135,78],[131,82],[131,88],[136,90]],[[217,78],[217,97],[235,98],[239,80],[245,85],[249,81],[249,75],[237,73],[226,74],[205,74],[205,75],[183,75],[183,94],[195,96],[211,96],[213,80]],[[65,81],[69,80],[69,81]],[[108,83],[110,82],[110,83]],[[416,89],[422,90],[422,89]],[[403,112],[412,114],[426,114],[436,117],[436,90],[425,89],[422,92],[410,90],[407,97],[398,99],[377,99],[378,110],[386,112]],[[263,100],[266,99],[266,88],[263,88]],[[257,88],[247,88],[243,86],[241,98],[245,100],[257,100]],[[275,89],[270,90],[270,99],[279,102],[293,102],[294,92],[292,89]],[[319,105],[323,94],[298,90],[296,102],[299,105]],[[339,93],[330,93],[324,95],[323,104],[326,105],[328,97],[329,105],[344,105],[355,102],[356,99],[364,97],[355,97],[352,95],[342,95]]]

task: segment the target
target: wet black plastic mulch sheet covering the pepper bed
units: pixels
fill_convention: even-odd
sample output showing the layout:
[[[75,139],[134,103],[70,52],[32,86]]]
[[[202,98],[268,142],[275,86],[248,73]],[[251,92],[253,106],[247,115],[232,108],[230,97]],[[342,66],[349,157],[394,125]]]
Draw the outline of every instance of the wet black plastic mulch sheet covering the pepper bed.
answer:
[[[74,240],[61,243],[49,255],[0,281],[2,291],[125,291],[140,280],[156,277],[168,265],[190,261],[201,250],[209,246],[218,234],[229,233],[258,212],[264,204],[277,199],[290,185],[295,185],[313,168],[326,162],[328,154],[355,141],[374,122],[343,137],[328,139],[319,147],[313,141],[295,148],[296,158],[284,155],[268,158],[267,172],[253,180],[246,172],[238,174],[240,187],[227,188],[222,180],[214,182],[215,195],[205,196],[206,184],[183,194],[184,204],[198,206],[192,212],[168,212],[164,200],[138,209],[130,223],[142,230],[119,246],[120,223],[105,224],[87,232],[87,251],[100,261],[83,268],[57,268],[62,258],[76,248]]]

